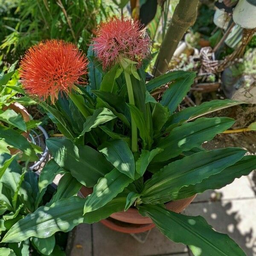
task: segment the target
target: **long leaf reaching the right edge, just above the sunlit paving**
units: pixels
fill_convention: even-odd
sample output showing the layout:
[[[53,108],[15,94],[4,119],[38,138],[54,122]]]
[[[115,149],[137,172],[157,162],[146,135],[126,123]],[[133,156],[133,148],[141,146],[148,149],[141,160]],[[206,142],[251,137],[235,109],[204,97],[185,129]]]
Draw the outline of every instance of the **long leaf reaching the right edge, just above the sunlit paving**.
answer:
[[[234,165],[225,168],[218,174],[211,175],[207,179],[202,180],[202,182],[200,183],[182,187],[177,192],[176,200],[189,198],[190,196],[202,193],[207,189],[220,189],[227,184],[232,183],[235,178],[240,178],[243,175],[248,175],[255,168],[256,156],[244,156]]]

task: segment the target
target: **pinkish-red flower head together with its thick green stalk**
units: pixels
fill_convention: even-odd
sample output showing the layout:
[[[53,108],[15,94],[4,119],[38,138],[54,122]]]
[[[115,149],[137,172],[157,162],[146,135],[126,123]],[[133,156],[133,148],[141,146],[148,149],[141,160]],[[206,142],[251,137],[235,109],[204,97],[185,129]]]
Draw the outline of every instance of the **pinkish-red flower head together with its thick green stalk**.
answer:
[[[131,75],[140,79],[137,67],[150,53],[150,38],[138,20],[113,18],[102,23],[94,39],[93,49],[102,62],[103,70],[116,64],[125,74],[129,102],[135,105]],[[137,126],[131,117],[131,150],[137,151]]]

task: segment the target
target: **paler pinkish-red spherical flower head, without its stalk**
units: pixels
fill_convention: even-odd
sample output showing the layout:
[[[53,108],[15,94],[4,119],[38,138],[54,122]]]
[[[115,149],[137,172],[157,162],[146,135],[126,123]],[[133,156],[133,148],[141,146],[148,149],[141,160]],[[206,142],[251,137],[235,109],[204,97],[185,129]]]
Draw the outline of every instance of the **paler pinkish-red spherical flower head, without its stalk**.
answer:
[[[140,21],[113,18],[99,27],[93,49],[106,70],[119,61],[119,56],[140,65],[150,53],[149,46],[150,38]]]

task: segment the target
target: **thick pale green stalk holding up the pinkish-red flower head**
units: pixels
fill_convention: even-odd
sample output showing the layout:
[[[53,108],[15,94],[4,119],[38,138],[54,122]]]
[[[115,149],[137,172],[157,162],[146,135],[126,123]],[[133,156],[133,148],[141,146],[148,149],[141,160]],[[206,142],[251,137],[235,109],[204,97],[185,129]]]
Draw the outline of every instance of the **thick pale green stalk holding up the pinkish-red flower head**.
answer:
[[[124,73],[125,73],[125,81],[127,86],[129,103],[131,105],[135,105],[130,74],[125,70],[124,70]],[[131,151],[132,152],[137,152],[137,140],[138,140],[137,137],[138,137],[137,126],[134,121],[134,118],[131,116]]]

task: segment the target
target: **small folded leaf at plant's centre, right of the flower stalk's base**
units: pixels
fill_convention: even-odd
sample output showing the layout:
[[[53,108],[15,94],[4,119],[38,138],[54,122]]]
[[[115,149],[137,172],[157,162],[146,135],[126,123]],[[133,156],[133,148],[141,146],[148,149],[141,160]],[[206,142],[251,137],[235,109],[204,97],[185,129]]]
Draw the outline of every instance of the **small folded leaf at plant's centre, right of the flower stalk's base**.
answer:
[[[151,151],[142,149],[140,158],[136,162],[136,172],[143,176],[152,159],[163,151],[162,148],[155,148]]]

